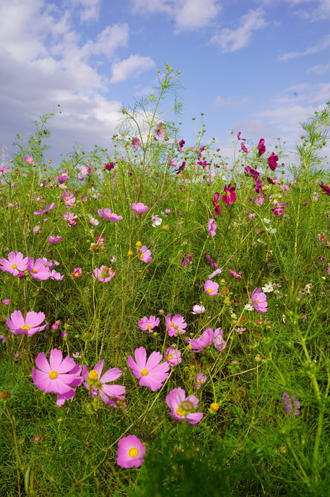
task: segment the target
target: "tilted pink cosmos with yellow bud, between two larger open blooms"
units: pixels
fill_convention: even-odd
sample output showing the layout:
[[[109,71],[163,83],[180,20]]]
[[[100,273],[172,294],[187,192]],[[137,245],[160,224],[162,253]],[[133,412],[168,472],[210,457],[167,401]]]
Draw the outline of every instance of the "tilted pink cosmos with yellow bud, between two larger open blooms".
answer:
[[[114,398],[123,400],[126,388],[123,385],[107,384],[114,382],[123,374],[118,368],[108,369],[103,373],[104,359],[98,362],[91,371],[88,371],[87,364],[83,366],[83,384],[87,388],[89,394],[92,393],[92,398],[96,398],[99,394],[105,404],[112,407],[117,407]]]

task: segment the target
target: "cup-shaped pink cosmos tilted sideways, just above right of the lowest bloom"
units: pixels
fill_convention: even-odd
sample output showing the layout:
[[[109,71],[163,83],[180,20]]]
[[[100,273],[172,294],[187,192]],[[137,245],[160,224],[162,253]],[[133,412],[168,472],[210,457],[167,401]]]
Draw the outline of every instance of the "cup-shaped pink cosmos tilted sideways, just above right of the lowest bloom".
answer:
[[[203,418],[203,413],[192,412],[198,406],[198,398],[193,395],[186,397],[181,388],[171,390],[166,397],[166,403],[171,409],[169,416],[176,420],[186,419],[191,425],[199,425]]]

